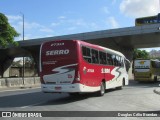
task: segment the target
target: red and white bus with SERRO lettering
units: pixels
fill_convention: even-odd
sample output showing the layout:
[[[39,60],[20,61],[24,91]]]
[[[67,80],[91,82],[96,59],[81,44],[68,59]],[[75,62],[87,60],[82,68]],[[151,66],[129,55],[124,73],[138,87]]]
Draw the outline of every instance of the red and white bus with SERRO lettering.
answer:
[[[40,49],[43,92],[96,92],[128,85],[125,56],[80,40],[45,42]]]

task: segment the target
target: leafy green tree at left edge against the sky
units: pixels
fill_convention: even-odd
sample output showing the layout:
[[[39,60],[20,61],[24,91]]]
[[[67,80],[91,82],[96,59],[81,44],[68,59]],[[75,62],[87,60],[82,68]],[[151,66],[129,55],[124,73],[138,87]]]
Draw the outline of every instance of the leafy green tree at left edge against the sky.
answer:
[[[9,44],[18,46],[18,43],[14,41],[14,37],[18,37],[19,33],[9,24],[8,18],[0,13],[0,46],[7,47]]]

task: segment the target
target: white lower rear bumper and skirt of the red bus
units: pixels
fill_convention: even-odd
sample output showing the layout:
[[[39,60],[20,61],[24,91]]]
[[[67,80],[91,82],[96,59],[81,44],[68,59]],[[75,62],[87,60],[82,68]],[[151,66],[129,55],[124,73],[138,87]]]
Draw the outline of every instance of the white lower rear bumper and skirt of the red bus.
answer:
[[[82,85],[80,83],[68,84],[68,85],[41,84],[41,90],[44,93],[95,92],[100,90],[100,86],[90,87],[90,86]]]

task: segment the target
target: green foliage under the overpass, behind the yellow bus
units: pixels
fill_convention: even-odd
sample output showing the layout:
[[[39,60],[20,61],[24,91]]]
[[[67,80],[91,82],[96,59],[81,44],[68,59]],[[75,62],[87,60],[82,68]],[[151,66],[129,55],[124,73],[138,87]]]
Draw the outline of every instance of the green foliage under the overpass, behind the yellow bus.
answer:
[[[135,60],[137,58],[147,59],[149,58],[149,53],[145,50],[134,49],[133,59]]]

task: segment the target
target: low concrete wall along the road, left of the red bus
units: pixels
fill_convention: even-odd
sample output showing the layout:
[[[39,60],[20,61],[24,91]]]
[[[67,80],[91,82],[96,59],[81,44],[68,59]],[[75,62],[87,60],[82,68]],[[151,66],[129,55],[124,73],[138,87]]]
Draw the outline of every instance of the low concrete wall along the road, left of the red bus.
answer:
[[[33,87],[40,86],[39,77],[28,77],[28,78],[1,78],[0,88],[3,87]]]

